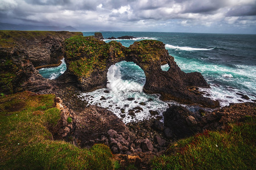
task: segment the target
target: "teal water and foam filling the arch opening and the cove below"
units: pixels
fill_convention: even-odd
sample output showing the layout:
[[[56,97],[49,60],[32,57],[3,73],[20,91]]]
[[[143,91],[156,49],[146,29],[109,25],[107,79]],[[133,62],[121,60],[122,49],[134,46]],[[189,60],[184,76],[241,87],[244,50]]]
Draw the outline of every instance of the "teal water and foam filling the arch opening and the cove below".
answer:
[[[82,94],[90,105],[112,111],[125,124],[148,118],[162,118],[168,104],[159,95],[143,92],[146,83],[144,71],[134,62],[121,61],[108,69],[106,88]]]

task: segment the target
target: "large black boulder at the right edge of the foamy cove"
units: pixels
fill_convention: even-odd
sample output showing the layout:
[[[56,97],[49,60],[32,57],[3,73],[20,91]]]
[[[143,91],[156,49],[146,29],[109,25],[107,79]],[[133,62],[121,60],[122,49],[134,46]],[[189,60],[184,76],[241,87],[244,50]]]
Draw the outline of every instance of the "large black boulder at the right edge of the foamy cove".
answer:
[[[184,107],[174,105],[168,108],[163,116],[164,126],[170,128],[177,138],[189,137],[198,131],[195,127],[194,114]]]

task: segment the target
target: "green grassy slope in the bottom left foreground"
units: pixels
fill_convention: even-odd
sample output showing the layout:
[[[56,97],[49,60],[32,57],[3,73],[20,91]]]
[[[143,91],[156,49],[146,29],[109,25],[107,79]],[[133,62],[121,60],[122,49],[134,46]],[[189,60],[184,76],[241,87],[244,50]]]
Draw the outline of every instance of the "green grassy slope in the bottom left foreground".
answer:
[[[0,169],[113,169],[105,145],[88,150],[52,140],[48,127],[60,119],[54,99],[32,92],[0,97]]]

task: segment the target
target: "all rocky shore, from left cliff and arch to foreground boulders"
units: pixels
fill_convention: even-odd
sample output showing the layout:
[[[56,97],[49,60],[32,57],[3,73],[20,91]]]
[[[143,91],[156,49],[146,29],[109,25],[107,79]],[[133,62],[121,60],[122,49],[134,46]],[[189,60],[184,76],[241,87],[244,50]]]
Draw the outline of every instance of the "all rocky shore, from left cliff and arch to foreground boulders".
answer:
[[[218,101],[203,97],[196,88],[209,87],[203,76],[181,71],[160,41],[139,41],[125,48],[115,41],[106,44],[81,35],[0,31],[1,93],[28,90],[55,94],[61,120],[50,130],[53,139],[65,139],[79,147],[104,143],[123,167],[134,164],[148,169],[150,160],[164,154],[168,145],[178,139],[205,130],[224,130],[229,122],[242,121],[244,116],[255,117],[255,103],[218,108]],[[35,69],[56,64],[63,56],[68,70],[56,80],[44,79]],[[164,122],[151,119],[125,125],[113,112],[88,105],[79,97],[81,91],[106,87],[108,68],[123,60],[133,61],[144,70],[144,92],[161,94],[162,100],[197,104],[202,109],[193,113],[181,106],[171,106],[163,113]],[[166,63],[170,69],[162,71],[160,65]],[[215,109],[207,112],[204,107]]]

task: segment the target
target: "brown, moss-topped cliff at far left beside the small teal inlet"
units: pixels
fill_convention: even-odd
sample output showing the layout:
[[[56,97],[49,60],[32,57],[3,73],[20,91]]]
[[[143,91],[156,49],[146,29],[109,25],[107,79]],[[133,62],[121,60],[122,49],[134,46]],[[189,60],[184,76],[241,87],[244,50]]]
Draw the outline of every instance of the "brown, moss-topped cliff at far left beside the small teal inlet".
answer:
[[[63,57],[65,39],[81,32],[0,31],[0,87],[1,92],[52,88],[42,78],[37,66],[56,64]]]

